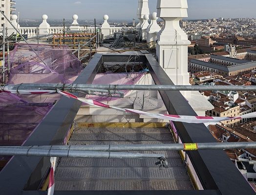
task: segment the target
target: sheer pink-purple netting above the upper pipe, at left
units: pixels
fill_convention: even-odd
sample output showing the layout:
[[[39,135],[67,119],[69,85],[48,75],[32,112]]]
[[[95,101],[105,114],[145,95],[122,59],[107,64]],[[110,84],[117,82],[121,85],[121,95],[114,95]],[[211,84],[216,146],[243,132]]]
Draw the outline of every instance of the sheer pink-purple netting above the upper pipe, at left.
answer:
[[[73,83],[83,70],[80,60],[65,45],[16,44],[10,52],[10,63],[9,84]]]

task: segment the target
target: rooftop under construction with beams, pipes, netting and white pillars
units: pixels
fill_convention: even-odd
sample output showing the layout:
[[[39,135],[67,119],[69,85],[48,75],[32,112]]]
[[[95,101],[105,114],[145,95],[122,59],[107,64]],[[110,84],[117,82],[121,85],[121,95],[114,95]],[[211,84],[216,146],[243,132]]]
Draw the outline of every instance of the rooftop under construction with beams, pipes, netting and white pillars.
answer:
[[[158,1],[163,20],[174,16],[161,9],[187,10],[186,0]],[[211,105],[197,91],[206,86],[187,84],[186,35],[164,42],[154,13],[155,38],[145,39],[146,15],[113,36],[105,15],[102,32],[64,27],[2,45],[0,195],[255,194],[223,151],[255,143],[216,143],[207,123],[235,117],[204,117]]]

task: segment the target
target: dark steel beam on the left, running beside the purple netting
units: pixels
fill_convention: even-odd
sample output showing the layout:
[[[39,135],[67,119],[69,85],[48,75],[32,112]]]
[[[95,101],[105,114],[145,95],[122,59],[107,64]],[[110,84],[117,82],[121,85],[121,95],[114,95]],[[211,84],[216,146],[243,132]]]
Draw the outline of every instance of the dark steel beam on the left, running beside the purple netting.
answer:
[[[74,83],[92,83],[101,64],[102,55],[96,54]],[[61,145],[81,105],[78,100],[62,97],[24,145]],[[21,195],[23,189],[38,190],[49,162],[49,157],[14,156],[0,172],[0,194]]]

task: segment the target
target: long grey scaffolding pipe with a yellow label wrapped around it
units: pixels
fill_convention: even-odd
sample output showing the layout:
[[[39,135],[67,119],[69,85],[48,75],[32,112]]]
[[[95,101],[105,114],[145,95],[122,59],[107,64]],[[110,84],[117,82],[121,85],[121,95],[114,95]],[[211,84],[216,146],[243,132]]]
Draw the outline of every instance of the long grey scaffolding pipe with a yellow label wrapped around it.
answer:
[[[140,152],[140,151],[190,151],[190,150],[226,150],[226,149],[256,149],[256,142],[227,142],[227,143],[189,143],[189,144],[134,144],[134,145],[87,145],[87,146],[0,146],[0,155],[5,150],[37,151],[90,151],[90,152]]]

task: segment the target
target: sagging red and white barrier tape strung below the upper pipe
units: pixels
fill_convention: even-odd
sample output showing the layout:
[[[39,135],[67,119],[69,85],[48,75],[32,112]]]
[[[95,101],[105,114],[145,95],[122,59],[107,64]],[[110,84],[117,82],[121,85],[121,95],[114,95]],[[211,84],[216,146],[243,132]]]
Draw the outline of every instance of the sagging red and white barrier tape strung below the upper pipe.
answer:
[[[221,121],[225,121],[225,120],[235,120],[235,119],[255,118],[256,117],[256,112],[238,116],[238,117],[197,117],[197,116],[150,114],[150,113],[139,111],[139,110],[124,109],[124,108],[118,108],[115,106],[110,106],[108,104],[105,104],[105,103],[102,103],[102,102],[99,102],[96,100],[78,98],[77,96],[74,96],[73,94],[70,94],[68,92],[64,92],[61,90],[57,90],[57,92],[67,98],[74,98],[74,99],[77,99],[77,100],[82,101],[89,105],[98,106],[98,107],[102,107],[102,108],[115,109],[115,110],[119,110],[119,111],[123,111],[123,112],[127,112],[127,113],[135,113],[135,114],[139,114],[139,115],[145,115],[145,116],[152,117],[152,118],[171,120],[171,121],[175,121],[175,122],[208,123],[208,122],[221,122]]]

